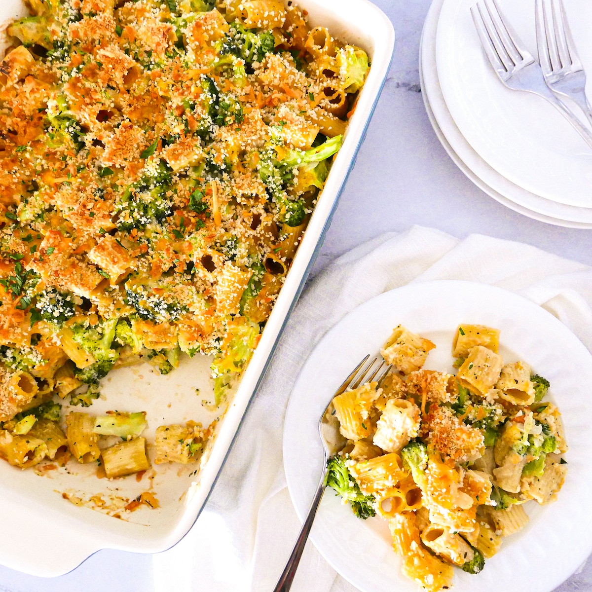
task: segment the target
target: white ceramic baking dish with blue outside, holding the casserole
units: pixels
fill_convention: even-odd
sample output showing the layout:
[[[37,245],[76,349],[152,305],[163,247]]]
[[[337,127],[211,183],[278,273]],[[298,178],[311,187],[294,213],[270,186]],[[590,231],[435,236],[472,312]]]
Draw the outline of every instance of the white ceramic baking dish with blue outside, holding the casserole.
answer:
[[[29,574],[53,576],[72,570],[103,548],[144,553],[163,551],[188,532],[204,507],[321,247],[387,77],[394,49],[390,21],[368,0],[299,0],[298,5],[308,11],[311,25],[325,25],[334,37],[365,49],[372,67],[350,119],[342,149],[334,160],[259,346],[226,416],[217,426],[207,462],[197,476],[191,474],[196,466],[160,465],[154,490],[161,507],[137,510],[124,516],[126,520],[115,519],[88,506],[75,506],[60,493],[85,499],[101,492],[134,498],[150,488],[147,477],[140,482],[136,482],[133,475],[121,480],[98,480],[94,476],[96,467],[88,465],[76,466],[76,475],[47,471],[40,476],[32,470],[20,471],[0,462],[0,524],[5,534],[0,545],[1,564]],[[25,14],[27,11],[21,0],[0,3],[0,22]],[[93,414],[108,409],[147,411],[149,439],[154,428],[162,423],[194,419],[207,425],[216,416],[215,410],[208,410],[201,404],[211,395],[209,363],[205,356],[185,359],[176,371],[165,377],[154,374],[147,365],[119,369],[107,378],[103,391],[105,400],[95,401],[88,411]],[[199,389],[197,394],[196,388]]]

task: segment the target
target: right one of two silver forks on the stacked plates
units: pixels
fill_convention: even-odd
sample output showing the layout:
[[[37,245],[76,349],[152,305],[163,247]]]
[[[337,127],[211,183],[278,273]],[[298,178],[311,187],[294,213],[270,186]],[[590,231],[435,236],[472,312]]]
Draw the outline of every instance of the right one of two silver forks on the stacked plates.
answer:
[[[586,75],[575,49],[563,0],[536,0],[536,45],[547,86],[568,96],[592,123]]]

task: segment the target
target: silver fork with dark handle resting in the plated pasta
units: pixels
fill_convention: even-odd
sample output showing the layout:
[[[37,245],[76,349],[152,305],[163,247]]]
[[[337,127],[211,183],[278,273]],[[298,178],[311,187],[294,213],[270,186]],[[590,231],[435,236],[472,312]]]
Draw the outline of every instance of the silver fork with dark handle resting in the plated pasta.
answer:
[[[318,504],[320,503],[321,497],[323,497],[323,492],[325,490],[327,459],[334,456],[345,445],[345,440],[339,434],[339,429],[337,427],[339,426],[339,422],[337,422],[337,418],[334,417],[335,410],[333,409],[333,398],[337,397],[337,395],[343,394],[345,391],[358,388],[361,384],[365,384],[366,382],[372,382],[373,380],[376,380],[378,382],[378,386],[380,386],[382,384],[382,381],[384,381],[386,375],[392,368],[392,366],[385,367],[386,362],[379,362],[379,358],[374,358],[371,362],[368,362],[369,357],[370,356],[367,355],[353,369],[352,373],[348,376],[348,378],[345,379],[343,384],[332,395],[332,397],[329,400],[329,403],[327,404],[327,407],[325,407],[323,414],[318,420],[318,435],[320,436],[321,442],[323,443],[324,453],[323,475],[321,476],[321,480],[318,482],[318,487],[316,493],[314,494],[313,503],[310,504],[308,515],[304,520],[302,528],[300,529],[300,533],[298,534],[298,538],[296,539],[294,549],[292,549],[292,553],[288,558],[286,567],[284,568],[282,575],[279,577],[278,583],[275,585],[274,592],[288,592],[292,585],[292,580],[294,580],[294,575],[296,573],[298,564],[300,563],[300,558],[304,551],[304,545],[306,544],[306,541],[308,539],[310,529],[313,526],[313,520],[314,516],[317,513]],[[334,433],[336,427],[337,433]],[[339,442],[339,439],[341,439],[342,441]]]

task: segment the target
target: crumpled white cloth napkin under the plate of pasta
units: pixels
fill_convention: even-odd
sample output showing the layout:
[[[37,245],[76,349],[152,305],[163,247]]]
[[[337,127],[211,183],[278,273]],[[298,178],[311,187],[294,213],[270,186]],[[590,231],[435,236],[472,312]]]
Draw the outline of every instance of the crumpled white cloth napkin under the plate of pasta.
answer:
[[[282,465],[282,429],[301,366],[327,330],[359,304],[432,279],[465,279],[518,292],[592,349],[592,268],[583,263],[527,244],[478,234],[461,241],[419,226],[353,249],[308,283],[200,519],[178,545],[153,556],[155,592],[274,589],[300,529]],[[559,589],[592,589],[592,569],[574,578]],[[309,543],[292,591],[356,588]]]

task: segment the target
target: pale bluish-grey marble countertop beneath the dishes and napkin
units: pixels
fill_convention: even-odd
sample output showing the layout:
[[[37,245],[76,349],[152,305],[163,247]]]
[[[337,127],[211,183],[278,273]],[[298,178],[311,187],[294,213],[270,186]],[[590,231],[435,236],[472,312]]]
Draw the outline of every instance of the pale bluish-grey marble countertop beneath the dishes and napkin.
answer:
[[[481,233],[517,240],[592,265],[592,230],[551,226],[509,210],[473,185],[446,155],[430,126],[419,85],[419,39],[430,0],[375,4],[394,24],[395,56],[313,273],[359,243],[413,224],[459,238]],[[199,527],[198,520],[194,528]],[[591,563],[556,592],[592,590]],[[52,579],[0,566],[0,592],[105,590],[152,592],[150,556],[99,551],[76,570]]]

